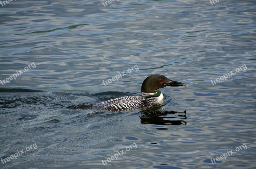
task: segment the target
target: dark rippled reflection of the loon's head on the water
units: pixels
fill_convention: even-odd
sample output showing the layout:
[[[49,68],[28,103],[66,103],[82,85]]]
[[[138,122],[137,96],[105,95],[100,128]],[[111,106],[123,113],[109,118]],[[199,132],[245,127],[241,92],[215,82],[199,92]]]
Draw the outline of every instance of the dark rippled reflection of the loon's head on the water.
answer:
[[[187,119],[185,111],[172,111],[157,107],[155,109],[141,110],[140,123],[156,125],[185,125],[187,122],[178,119]],[[160,108],[160,109],[159,109]]]

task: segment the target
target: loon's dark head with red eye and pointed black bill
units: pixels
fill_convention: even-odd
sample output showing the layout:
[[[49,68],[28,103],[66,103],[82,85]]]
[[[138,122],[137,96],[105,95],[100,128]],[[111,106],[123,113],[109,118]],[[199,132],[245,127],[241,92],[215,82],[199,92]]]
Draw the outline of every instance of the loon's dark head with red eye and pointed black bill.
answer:
[[[164,88],[166,86],[186,86],[185,83],[178,81],[172,81],[164,75],[154,74],[148,76],[141,85],[141,92],[143,93],[155,93],[157,89]]]

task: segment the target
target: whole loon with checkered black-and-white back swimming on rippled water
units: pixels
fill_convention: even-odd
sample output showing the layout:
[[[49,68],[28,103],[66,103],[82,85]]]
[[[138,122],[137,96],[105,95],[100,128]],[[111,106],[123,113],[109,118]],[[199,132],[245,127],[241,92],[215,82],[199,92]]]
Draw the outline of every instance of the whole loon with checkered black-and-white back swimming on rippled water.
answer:
[[[148,76],[141,85],[141,95],[125,96],[116,99],[111,99],[105,102],[100,102],[94,105],[95,108],[100,108],[107,111],[126,111],[144,106],[150,106],[164,99],[163,94],[157,90],[166,86],[184,86],[186,84],[178,81],[172,81],[164,75],[154,74]]]

